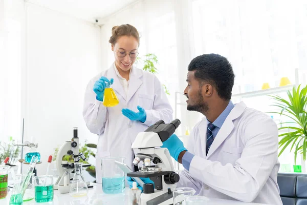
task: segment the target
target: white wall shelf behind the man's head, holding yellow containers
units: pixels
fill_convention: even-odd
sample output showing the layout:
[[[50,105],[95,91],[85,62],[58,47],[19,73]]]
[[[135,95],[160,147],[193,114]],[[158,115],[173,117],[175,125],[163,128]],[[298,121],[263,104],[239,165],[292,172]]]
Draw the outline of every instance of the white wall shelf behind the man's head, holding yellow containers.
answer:
[[[277,87],[277,88],[269,88],[266,90],[257,90],[257,91],[252,91],[252,92],[246,92],[246,93],[238,93],[238,94],[233,94],[231,97],[256,97],[256,96],[261,96],[261,95],[271,95],[271,94],[276,94],[280,92],[285,92],[287,90],[292,90],[294,85],[288,85],[288,86],[282,86],[282,87]]]

